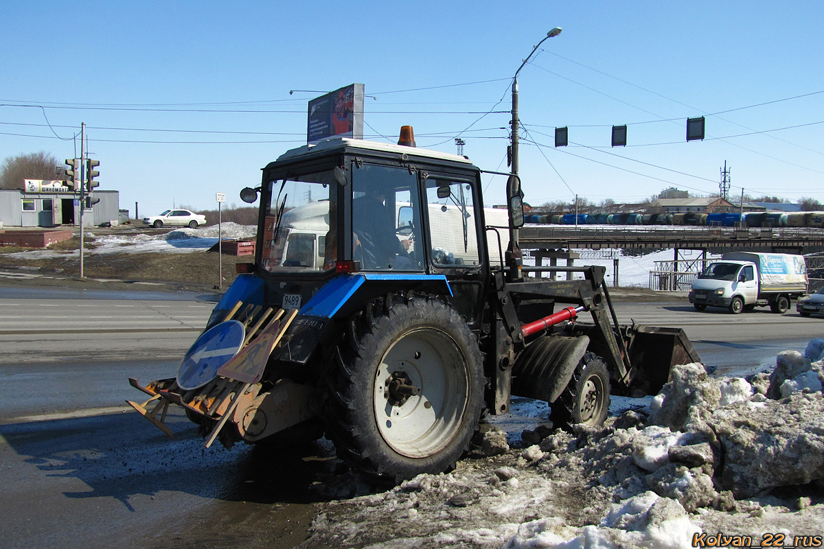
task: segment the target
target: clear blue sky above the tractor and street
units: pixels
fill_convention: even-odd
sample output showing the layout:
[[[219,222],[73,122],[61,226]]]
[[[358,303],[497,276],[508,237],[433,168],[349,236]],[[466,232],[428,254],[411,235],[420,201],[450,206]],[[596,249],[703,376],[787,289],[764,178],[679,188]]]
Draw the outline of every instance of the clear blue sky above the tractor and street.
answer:
[[[307,100],[360,82],[368,138],[411,124],[419,147],[461,137],[503,171],[511,79],[560,26],[518,78],[527,202],[718,193],[724,161],[733,196],[824,202],[822,21],[818,1],[17,2],[0,18],[0,160],[79,155],[86,123],[100,188],[131,215],[213,209],[216,192],[240,205],[305,143]],[[701,115],[707,137],[686,142]]]

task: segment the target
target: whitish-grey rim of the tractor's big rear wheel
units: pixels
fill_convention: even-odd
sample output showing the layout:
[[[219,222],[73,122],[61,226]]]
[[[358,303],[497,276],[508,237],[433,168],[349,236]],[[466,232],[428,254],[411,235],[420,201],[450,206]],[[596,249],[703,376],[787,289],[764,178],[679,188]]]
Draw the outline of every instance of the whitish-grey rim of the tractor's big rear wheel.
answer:
[[[404,402],[388,396],[387,380],[403,372],[419,388]],[[386,350],[375,375],[377,430],[386,444],[409,458],[437,454],[456,435],[464,416],[469,379],[460,347],[446,333],[419,328]]]

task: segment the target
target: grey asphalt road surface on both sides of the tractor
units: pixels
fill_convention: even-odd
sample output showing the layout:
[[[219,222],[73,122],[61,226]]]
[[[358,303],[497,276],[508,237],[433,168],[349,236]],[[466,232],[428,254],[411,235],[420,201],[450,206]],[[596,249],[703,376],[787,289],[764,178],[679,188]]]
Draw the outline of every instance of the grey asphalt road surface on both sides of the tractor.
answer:
[[[305,539],[316,503],[334,492],[328,445],[297,454],[204,449],[180,412],[169,417],[176,438],[168,440],[124,405],[142,395],[129,376],[175,374],[212,302],[36,294],[0,290],[2,547],[294,547]],[[616,308],[621,322],[684,328],[706,364],[730,373],[824,337],[824,319],[794,312],[698,313],[684,300]]]

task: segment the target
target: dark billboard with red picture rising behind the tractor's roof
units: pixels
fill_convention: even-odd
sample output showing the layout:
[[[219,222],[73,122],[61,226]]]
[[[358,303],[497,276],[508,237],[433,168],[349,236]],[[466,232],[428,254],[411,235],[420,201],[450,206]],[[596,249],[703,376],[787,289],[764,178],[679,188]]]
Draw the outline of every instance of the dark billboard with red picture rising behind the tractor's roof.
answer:
[[[363,139],[363,84],[352,84],[309,101],[307,142],[327,137]]]

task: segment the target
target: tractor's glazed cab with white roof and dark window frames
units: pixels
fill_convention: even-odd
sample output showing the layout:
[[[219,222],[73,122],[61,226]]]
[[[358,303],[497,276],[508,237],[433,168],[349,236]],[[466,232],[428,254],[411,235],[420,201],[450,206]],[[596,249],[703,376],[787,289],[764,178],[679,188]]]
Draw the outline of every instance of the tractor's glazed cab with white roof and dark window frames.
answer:
[[[321,288],[352,273],[372,293],[451,294],[467,319],[480,318],[489,212],[480,170],[466,157],[331,138],[267,165],[260,188],[241,193],[250,202],[259,197],[255,265],[227,292],[213,322],[236,300],[246,302],[241,293],[251,288],[261,304],[304,312]],[[506,210],[492,216],[508,226]],[[351,314],[343,309],[336,313]]]

